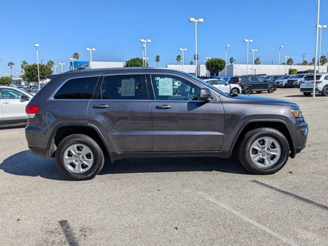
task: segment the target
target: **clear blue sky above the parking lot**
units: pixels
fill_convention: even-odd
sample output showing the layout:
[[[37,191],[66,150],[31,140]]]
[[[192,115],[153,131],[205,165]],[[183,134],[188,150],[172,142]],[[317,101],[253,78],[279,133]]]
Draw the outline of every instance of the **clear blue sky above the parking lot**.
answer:
[[[124,61],[142,57],[139,38],[151,38],[147,56],[150,66],[176,63],[178,48],[185,47],[185,63],[195,53],[194,23],[188,17],[203,18],[198,25],[200,63],[205,56],[224,58],[224,47],[230,44],[228,57],[245,64],[244,38],[252,38],[250,48],[257,49],[262,64],[277,64],[281,55],[295,63],[306,53],[314,57],[316,0],[230,0],[230,1],[2,1],[0,14],[0,76],[20,71],[20,62],[35,63],[34,44],[40,44],[39,58],[66,63],[73,52],[80,60],[89,60],[86,47],[97,49],[97,61]],[[328,3],[321,1],[320,23],[328,25],[325,14]],[[328,52],[328,29],[322,32],[322,52]],[[250,62],[252,57],[250,56]],[[281,61],[282,62],[282,61]]]

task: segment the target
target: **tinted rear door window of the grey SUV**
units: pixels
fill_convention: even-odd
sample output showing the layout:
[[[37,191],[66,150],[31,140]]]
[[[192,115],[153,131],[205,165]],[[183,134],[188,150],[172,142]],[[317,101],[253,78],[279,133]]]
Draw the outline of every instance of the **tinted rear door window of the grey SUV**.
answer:
[[[147,98],[147,89],[142,86],[140,74],[105,76],[101,84],[101,99],[104,100],[140,100]]]

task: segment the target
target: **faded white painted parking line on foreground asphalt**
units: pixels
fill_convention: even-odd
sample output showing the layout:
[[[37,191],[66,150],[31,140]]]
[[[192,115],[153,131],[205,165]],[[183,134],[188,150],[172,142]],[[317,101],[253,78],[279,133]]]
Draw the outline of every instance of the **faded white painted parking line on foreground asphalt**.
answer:
[[[218,201],[218,200],[216,200],[216,199],[210,197],[210,196],[207,195],[206,193],[204,193],[204,192],[198,192],[198,195],[200,195],[200,196],[202,196],[203,198],[205,198],[205,199],[207,199],[207,200],[209,200],[209,201],[211,201],[211,202],[217,204],[217,205],[220,206],[221,208],[228,210],[229,212],[233,213],[234,215],[238,216],[239,218],[241,218],[241,219],[243,219],[243,220],[245,220],[245,221],[247,221],[247,222],[253,224],[253,226],[255,226],[255,227],[257,227],[257,228],[263,230],[264,232],[267,232],[267,233],[269,233],[270,235],[272,235],[272,236],[274,236],[274,237],[276,237],[276,238],[279,238],[281,241],[283,241],[283,242],[285,242],[285,243],[288,243],[289,245],[292,245],[292,246],[297,246],[297,245],[298,245],[298,244],[295,243],[293,240],[291,240],[291,239],[289,239],[289,238],[286,238],[286,237],[280,235],[279,233],[270,230],[269,228],[263,226],[262,224],[256,222],[256,221],[253,220],[253,219],[250,219],[249,217],[247,217],[247,216],[245,216],[245,215],[242,215],[241,213],[235,211],[234,209],[230,208],[230,207],[227,206],[226,204],[224,204],[224,203],[222,203],[222,202],[220,202],[220,201]]]

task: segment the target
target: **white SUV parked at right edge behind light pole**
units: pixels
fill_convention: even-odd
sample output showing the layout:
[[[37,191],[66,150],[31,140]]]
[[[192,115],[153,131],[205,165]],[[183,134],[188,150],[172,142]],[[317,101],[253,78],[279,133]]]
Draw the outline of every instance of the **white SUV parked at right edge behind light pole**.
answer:
[[[313,93],[313,79],[314,75],[309,75],[301,82],[300,91],[304,96],[310,96]],[[323,96],[328,96],[328,73],[317,74],[315,90]]]

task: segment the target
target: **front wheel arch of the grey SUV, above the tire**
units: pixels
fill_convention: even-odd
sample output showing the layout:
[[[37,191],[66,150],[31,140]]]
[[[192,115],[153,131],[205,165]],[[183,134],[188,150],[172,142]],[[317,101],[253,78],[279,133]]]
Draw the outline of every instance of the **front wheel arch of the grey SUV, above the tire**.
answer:
[[[230,147],[230,152],[232,152],[234,149],[237,148],[239,141],[246,133],[260,127],[270,127],[280,131],[287,138],[289,142],[290,150],[291,150],[290,156],[291,157],[295,156],[296,146],[295,146],[295,138],[293,132],[289,127],[289,125],[281,119],[255,119],[255,120],[248,120],[244,122],[244,124],[239,129],[237,135],[235,136],[232,142],[232,145]]]

